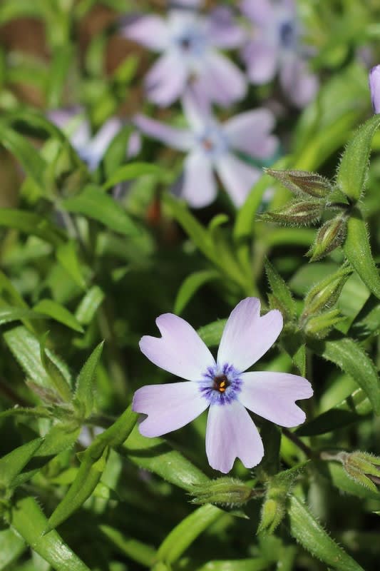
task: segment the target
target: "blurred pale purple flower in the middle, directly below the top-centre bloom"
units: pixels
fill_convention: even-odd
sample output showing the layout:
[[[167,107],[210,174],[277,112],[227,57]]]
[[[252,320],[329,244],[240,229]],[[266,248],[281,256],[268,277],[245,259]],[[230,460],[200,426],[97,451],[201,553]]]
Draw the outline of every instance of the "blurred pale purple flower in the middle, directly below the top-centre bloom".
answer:
[[[264,108],[246,111],[221,124],[209,111],[197,108],[192,98],[183,103],[190,129],[170,127],[142,115],[135,117],[135,125],[168,146],[188,151],[181,196],[190,206],[201,208],[215,200],[214,171],[235,206],[241,206],[262,171],[242,161],[234,151],[259,160],[273,156],[278,141],[270,134],[272,112]]]

